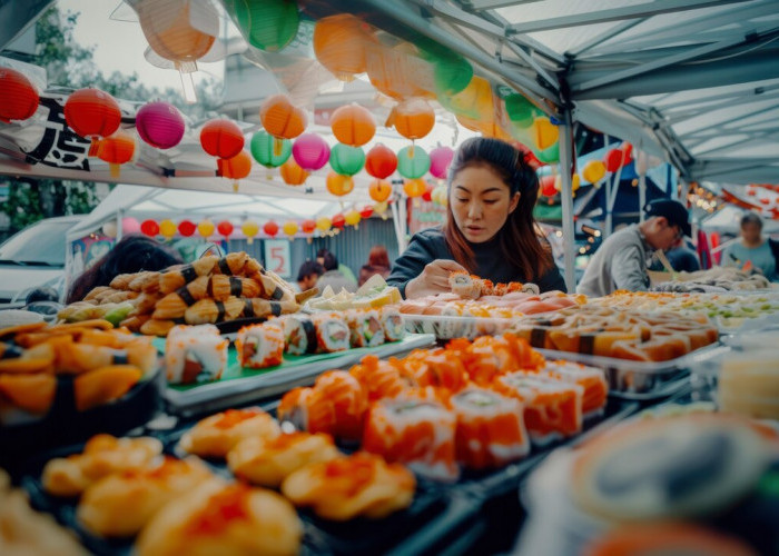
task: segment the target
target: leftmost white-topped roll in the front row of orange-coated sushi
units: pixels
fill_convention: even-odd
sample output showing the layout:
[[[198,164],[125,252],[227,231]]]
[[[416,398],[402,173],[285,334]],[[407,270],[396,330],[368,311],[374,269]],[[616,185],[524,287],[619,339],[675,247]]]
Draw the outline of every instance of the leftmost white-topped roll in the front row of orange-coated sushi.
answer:
[[[454,413],[435,400],[412,396],[376,401],[368,413],[363,449],[443,481],[456,480]]]

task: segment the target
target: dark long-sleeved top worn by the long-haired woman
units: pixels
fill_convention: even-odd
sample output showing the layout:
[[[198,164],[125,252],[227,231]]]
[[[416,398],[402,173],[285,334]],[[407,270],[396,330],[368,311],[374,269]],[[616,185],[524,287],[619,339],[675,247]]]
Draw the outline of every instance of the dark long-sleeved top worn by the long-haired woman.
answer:
[[[496,239],[483,244],[470,244],[476,258],[476,275],[493,282],[533,281],[543,291],[566,291],[565,281],[556,266],[536,279],[527,279],[524,272],[513,267],[501,252]],[[436,259],[454,260],[452,251],[446,246],[441,228],[428,228],[411,238],[408,248],[401,255],[392,267],[387,284],[396,286],[403,297],[406,297],[406,284],[422,274],[425,266]],[[532,274],[532,272],[527,272]]]

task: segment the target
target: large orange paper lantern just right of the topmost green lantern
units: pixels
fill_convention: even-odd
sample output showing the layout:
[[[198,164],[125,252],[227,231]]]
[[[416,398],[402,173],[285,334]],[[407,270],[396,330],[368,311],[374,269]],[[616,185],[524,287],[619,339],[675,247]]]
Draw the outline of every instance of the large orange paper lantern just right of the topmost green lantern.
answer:
[[[322,18],[314,27],[316,59],[342,81],[365,72],[365,52],[375,43],[371,28],[351,13]]]

